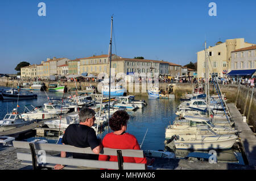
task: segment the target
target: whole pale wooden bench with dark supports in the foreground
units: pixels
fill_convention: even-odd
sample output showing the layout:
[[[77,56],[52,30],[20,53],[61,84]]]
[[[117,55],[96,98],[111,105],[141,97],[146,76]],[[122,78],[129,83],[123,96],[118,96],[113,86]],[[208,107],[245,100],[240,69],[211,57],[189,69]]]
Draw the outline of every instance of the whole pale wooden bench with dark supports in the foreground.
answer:
[[[137,157],[143,158],[143,150],[121,150],[103,148],[102,155],[116,155],[118,162],[97,161],[91,159],[77,159],[77,158],[61,158],[47,154],[46,151],[66,151],[69,153],[86,153],[94,154],[90,148],[77,148],[71,145],[57,145],[57,144],[42,144],[31,143],[27,141],[13,141],[14,148],[30,149],[31,153],[17,153],[17,158],[22,160],[23,165],[32,165],[33,170],[40,170],[43,168],[52,169],[56,164],[65,165],[65,170],[72,169],[115,169],[115,170],[145,170],[146,164],[143,163],[126,163],[123,162],[123,157]],[[37,151],[36,151],[37,150]],[[42,150],[42,151],[40,151]],[[39,151],[39,152],[38,152]],[[44,152],[45,151],[45,152]],[[46,155],[42,155],[44,152]],[[39,158],[43,158],[43,163],[40,163]]]

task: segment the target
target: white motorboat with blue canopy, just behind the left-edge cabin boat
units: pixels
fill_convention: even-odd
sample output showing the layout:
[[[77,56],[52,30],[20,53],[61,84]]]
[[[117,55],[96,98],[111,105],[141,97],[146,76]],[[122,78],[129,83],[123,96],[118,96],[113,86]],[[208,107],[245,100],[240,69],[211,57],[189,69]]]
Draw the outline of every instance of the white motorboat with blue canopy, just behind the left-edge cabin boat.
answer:
[[[22,113],[23,119],[36,119],[36,120],[44,120],[44,119],[51,119],[57,117],[57,113],[55,112],[48,112],[44,111],[42,106],[34,107],[31,104],[25,105],[24,111]]]

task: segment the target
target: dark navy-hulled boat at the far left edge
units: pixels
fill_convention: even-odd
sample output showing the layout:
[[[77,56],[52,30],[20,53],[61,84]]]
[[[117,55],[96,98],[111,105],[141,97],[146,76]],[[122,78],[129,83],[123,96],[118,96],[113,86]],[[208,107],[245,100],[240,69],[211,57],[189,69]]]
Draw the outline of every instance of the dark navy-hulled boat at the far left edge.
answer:
[[[33,94],[30,91],[19,91],[18,89],[10,89],[2,91],[2,98],[4,100],[16,100],[16,99],[36,99],[37,94]]]

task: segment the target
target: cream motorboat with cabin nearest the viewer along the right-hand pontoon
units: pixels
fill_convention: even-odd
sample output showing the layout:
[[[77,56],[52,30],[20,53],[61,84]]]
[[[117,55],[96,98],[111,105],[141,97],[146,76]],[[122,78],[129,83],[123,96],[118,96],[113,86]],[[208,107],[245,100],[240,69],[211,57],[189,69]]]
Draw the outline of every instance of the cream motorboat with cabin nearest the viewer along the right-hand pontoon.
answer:
[[[185,134],[176,136],[174,140],[176,149],[191,150],[211,150],[211,149],[230,149],[236,142],[238,136],[234,134],[217,134],[207,126],[197,126],[196,134],[190,137]]]

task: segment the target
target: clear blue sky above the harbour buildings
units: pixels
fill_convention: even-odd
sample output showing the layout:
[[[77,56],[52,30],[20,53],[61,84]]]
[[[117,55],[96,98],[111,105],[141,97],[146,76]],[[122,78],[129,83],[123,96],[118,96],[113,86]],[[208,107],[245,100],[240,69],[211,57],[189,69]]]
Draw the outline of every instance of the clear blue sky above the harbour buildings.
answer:
[[[210,2],[217,16],[208,15]],[[255,11],[255,0],[1,0],[0,73],[16,73],[20,61],[108,54],[112,14],[113,53],[185,65],[196,62],[205,37],[208,45],[242,37],[256,43]]]

